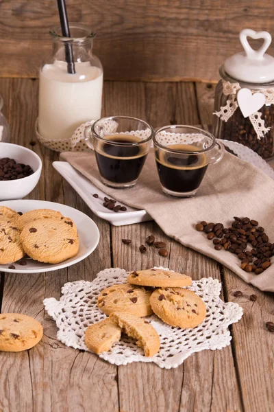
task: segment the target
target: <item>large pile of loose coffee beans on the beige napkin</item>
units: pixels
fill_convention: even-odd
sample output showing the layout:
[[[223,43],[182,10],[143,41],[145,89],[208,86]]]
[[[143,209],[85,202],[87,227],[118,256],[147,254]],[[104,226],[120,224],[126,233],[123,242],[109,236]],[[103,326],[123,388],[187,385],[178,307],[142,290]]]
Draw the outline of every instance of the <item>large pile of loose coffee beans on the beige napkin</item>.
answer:
[[[274,243],[269,242],[269,236],[257,220],[235,216],[230,227],[202,220],[197,223],[196,230],[206,233],[216,251],[225,249],[237,255],[243,271],[260,275],[271,266]]]

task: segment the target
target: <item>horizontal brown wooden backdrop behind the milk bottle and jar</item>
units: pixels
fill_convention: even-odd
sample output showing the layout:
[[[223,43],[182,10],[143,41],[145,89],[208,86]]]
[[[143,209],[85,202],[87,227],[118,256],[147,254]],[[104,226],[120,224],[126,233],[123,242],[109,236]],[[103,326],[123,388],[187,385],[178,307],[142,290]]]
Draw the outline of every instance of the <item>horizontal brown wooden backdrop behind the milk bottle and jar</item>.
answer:
[[[240,30],[273,32],[273,12],[259,0],[68,2],[69,19],[98,32],[95,53],[112,80],[217,80],[225,58],[241,51]],[[1,76],[37,76],[58,24],[53,0],[1,1]]]

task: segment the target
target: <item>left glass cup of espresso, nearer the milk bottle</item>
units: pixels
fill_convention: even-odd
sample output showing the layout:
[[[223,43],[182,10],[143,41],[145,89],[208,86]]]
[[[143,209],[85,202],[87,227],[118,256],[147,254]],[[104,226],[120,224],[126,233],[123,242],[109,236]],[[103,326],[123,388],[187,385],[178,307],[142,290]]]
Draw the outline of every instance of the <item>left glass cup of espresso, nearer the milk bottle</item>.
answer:
[[[103,117],[92,125],[92,145],[101,180],[110,187],[136,184],[151,146],[153,128],[135,117]]]

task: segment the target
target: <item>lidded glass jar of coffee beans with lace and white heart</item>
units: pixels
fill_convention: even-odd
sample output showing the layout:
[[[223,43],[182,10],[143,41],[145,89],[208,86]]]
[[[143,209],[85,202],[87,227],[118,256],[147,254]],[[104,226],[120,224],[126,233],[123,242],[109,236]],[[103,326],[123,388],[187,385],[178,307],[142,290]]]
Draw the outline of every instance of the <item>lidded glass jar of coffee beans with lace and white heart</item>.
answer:
[[[264,38],[264,44],[254,50],[247,36]],[[230,56],[220,68],[222,80],[215,91],[213,133],[216,138],[236,141],[269,159],[274,154],[274,58],[264,52],[271,35],[246,29],[240,32],[240,42],[245,52]],[[255,93],[263,95],[259,99],[265,100],[264,104],[256,101]]]

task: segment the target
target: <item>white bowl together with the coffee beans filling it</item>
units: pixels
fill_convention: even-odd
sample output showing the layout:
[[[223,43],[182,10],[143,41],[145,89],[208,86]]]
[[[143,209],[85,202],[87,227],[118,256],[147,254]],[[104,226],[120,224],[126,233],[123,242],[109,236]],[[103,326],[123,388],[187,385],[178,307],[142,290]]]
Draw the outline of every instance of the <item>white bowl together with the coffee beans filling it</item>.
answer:
[[[0,201],[23,198],[36,187],[42,161],[23,146],[1,143],[0,147]]]

